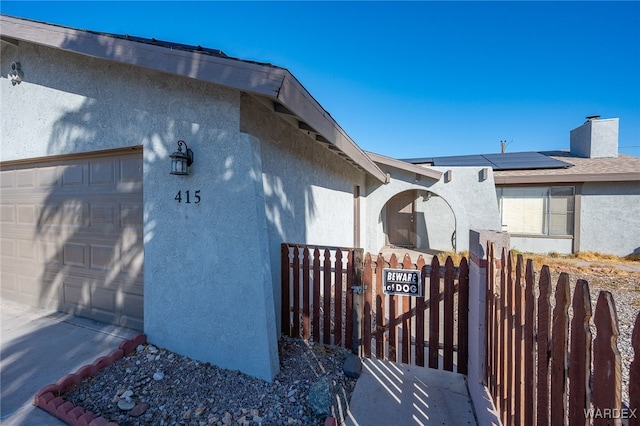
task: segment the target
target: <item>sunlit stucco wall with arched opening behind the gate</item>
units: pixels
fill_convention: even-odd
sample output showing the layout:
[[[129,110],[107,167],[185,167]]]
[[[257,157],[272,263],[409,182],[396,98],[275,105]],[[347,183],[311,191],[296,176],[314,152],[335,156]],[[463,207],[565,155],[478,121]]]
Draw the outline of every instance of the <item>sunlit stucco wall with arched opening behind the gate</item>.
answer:
[[[429,191],[437,196],[424,203],[424,206],[418,202],[416,210],[426,211],[433,200],[433,213],[426,213],[426,216],[431,216],[426,222],[426,227],[433,230],[438,247],[442,247],[443,250],[451,250],[451,246],[445,248],[445,245],[450,244],[451,241],[450,211],[453,211],[455,217],[457,251],[468,250],[469,230],[472,228],[500,230],[500,214],[491,170],[487,179],[483,180],[480,167],[433,167],[434,170],[441,172],[451,170],[451,180],[445,182],[444,175],[438,181],[424,176],[416,180],[415,173],[385,165],[380,167],[386,173],[390,173],[391,182],[386,185],[369,182],[364,241],[366,251],[376,253],[385,244],[384,206],[391,197],[407,190]],[[419,192],[419,194],[422,193]],[[438,220],[444,222],[443,227],[437,226],[435,222]],[[417,227],[417,230],[419,229],[420,227]]]

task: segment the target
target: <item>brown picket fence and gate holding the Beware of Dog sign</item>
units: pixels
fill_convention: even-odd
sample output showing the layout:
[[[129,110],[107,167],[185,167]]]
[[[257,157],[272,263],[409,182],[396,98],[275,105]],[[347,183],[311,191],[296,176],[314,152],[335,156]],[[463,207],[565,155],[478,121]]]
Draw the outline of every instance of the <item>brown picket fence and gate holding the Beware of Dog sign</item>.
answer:
[[[384,268],[420,270],[423,296],[385,294]],[[282,332],[292,337],[466,374],[468,303],[466,259],[455,267],[433,257],[427,265],[422,256],[398,262],[395,255],[363,259],[351,248],[282,244]]]

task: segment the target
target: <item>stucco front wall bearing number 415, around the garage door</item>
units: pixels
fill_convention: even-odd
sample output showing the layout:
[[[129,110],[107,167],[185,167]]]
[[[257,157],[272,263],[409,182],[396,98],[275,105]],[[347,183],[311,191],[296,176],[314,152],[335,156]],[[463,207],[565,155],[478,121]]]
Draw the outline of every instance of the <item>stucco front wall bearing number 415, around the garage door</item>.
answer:
[[[6,79],[12,61],[24,72],[16,86]],[[3,45],[2,76],[2,161],[143,146],[149,341],[271,380],[260,144],[239,131],[240,93],[22,42]],[[194,151],[189,176],[169,175],[179,139]],[[176,201],[178,191],[192,202]]]

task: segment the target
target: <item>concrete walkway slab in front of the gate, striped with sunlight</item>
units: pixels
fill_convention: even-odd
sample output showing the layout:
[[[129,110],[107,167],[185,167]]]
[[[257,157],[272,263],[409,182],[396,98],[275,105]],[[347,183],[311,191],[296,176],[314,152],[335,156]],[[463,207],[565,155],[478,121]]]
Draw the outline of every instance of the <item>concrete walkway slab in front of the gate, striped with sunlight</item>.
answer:
[[[365,359],[345,424],[463,426],[476,419],[464,376]]]

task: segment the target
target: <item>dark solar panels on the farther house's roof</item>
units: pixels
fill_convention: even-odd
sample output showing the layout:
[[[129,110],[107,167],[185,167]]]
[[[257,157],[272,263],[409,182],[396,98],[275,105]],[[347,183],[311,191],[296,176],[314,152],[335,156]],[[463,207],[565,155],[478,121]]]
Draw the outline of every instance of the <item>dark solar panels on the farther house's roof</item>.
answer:
[[[433,166],[442,167],[491,167],[493,170],[562,169],[572,166],[539,152],[411,158],[402,161],[412,164],[431,163]]]

